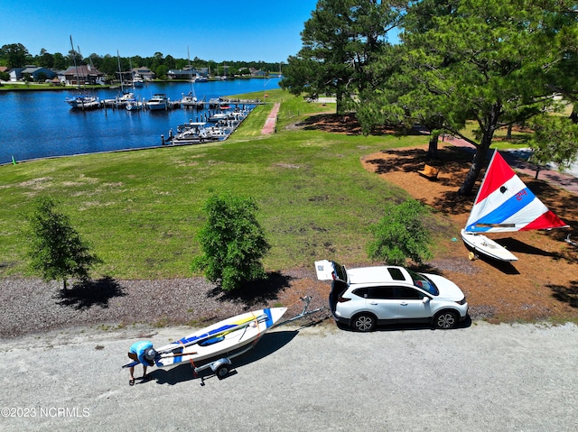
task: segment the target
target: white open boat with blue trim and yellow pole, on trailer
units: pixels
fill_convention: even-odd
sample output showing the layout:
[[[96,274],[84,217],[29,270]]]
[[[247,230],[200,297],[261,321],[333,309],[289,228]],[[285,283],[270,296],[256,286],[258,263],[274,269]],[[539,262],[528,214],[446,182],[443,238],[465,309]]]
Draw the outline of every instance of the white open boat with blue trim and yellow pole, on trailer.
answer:
[[[238,350],[256,341],[283,317],[287,308],[265,308],[224,319],[169,345],[156,349],[158,367],[199,363]]]

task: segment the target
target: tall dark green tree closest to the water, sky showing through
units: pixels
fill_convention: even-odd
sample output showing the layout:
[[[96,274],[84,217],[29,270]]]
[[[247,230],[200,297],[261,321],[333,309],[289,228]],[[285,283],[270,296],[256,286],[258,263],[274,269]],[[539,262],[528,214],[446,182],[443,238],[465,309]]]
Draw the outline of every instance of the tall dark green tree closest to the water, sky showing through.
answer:
[[[281,87],[310,97],[335,95],[342,113],[350,94],[365,87],[365,68],[387,43],[399,2],[320,0],[301,33],[303,48],[288,60]]]

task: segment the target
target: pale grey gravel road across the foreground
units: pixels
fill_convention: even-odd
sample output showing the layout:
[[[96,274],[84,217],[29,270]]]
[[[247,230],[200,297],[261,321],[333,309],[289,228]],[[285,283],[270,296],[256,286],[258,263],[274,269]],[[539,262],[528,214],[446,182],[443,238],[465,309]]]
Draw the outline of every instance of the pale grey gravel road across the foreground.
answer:
[[[0,430],[578,430],[573,324],[281,326],[223,380],[183,364],[128,386],[133,342],[190,331],[81,326],[2,340]]]

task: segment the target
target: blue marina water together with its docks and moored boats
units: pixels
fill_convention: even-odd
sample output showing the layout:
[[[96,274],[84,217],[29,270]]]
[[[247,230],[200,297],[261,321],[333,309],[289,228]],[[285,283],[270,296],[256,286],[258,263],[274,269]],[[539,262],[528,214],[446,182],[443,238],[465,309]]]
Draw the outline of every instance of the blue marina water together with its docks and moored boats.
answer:
[[[68,101],[80,96],[72,88],[0,92],[0,107],[8,114],[0,126],[0,164],[222,140],[231,128],[242,122],[249,108],[263,103],[267,90],[278,88],[279,79],[196,83],[199,104],[194,106],[176,103],[189,95],[188,82],[146,83],[144,87],[131,88],[132,97],[125,96],[120,89],[98,89],[85,95],[100,101],[93,109],[82,109],[81,105],[72,107]],[[234,97],[247,93],[256,93],[256,98]],[[169,102],[166,109],[147,109],[144,104],[157,94],[166,95]],[[225,112],[231,118],[209,121],[211,115]],[[179,131],[179,126],[191,123],[204,123],[208,138],[197,140],[194,132],[177,138],[184,132],[184,128]]]

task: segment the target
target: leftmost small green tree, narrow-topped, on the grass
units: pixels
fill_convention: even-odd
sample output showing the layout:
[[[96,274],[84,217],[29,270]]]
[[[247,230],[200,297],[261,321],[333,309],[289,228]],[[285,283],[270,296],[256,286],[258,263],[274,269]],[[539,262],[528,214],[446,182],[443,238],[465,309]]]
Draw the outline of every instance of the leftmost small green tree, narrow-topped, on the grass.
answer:
[[[56,210],[51,198],[38,200],[29,222],[29,257],[33,271],[45,281],[62,280],[64,290],[70,277],[89,278],[91,267],[100,260],[90,253],[89,244],[70,225],[69,217]]]

